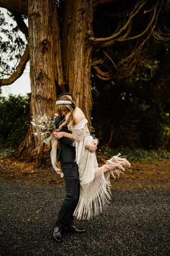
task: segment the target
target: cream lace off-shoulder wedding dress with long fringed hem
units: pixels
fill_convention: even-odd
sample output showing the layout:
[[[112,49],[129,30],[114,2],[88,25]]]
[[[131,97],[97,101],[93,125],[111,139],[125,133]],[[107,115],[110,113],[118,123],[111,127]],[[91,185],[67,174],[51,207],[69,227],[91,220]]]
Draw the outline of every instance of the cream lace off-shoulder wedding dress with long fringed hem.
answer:
[[[80,123],[72,126],[81,185],[79,202],[74,212],[78,219],[89,219],[92,215],[98,214],[110,199],[110,173],[104,174],[104,166],[98,167],[95,153],[85,148],[86,143],[94,140],[90,135],[87,122],[84,118]]]

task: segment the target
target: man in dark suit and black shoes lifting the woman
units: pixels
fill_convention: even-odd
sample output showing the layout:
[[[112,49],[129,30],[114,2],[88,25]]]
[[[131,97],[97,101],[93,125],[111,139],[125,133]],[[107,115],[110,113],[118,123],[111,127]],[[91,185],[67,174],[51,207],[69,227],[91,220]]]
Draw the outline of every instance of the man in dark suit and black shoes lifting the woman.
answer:
[[[71,97],[71,96],[70,96]],[[63,122],[63,117],[58,116],[55,118],[56,129],[59,128]],[[67,125],[63,126],[61,132],[69,132]],[[56,137],[54,132],[54,137]],[[94,144],[90,149],[91,152],[95,152],[97,149],[98,140],[93,136]],[[76,228],[74,225],[73,213],[78,204],[79,193],[80,193],[80,182],[78,174],[78,165],[75,162],[75,147],[72,146],[73,140],[62,137],[59,139],[60,149],[58,162],[61,163],[61,168],[64,174],[65,185],[66,185],[66,197],[63,200],[61,209],[58,213],[58,218],[55,223],[53,237],[57,243],[61,243],[62,232],[72,233],[84,233],[86,230]],[[86,148],[88,149],[88,145]],[[89,150],[89,149],[88,149]]]

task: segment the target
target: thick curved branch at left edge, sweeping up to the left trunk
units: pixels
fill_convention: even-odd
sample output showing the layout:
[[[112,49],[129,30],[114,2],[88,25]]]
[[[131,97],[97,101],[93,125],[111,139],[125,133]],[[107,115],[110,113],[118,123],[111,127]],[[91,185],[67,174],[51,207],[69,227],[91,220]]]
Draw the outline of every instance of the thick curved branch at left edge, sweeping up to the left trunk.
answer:
[[[26,63],[29,61],[29,45],[26,47],[26,50],[23,53],[23,56],[20,59],[20,63],[17,66],[17,70],[11,75],[11,77],[6,79],[0,79],[0,87],[3,85],[11,85],[15,82],[22,74],[26,67]]]

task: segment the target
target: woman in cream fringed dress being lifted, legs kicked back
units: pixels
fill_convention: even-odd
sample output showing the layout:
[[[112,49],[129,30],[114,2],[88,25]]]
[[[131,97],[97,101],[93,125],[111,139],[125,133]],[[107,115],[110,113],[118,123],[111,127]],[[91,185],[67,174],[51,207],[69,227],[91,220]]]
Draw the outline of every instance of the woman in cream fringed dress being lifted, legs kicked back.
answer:
[[[74,215],[78,219],[89,219],[102,210],[102,205],[106,206],[110,199],[110,173],[115,178],[125,171],[124,166],[130,166],[125,158],[121,158],[120,153],[107,160],[105,165],[98,167],[95,153],[90,152],[92,141],[87,127],[87,119],[81,109],[76,107],[69,95],[58,98],[57,113],[64,117],[60,124],[55,138],[67,137],[74,140],[73,146],[76,150],[76,163],[78,164],[80,179],[80,198]],[[60,132],[63,126],[67,125],[72,133]],[[87,149],[89,148],[89,150]]]

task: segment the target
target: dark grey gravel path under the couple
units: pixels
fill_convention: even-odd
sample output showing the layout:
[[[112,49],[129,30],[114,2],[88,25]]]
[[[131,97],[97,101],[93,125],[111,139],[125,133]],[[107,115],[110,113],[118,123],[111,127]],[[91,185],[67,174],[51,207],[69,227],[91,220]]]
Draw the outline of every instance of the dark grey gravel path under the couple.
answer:
[[[0,183],[2,256],[170,256],[170,191],[112,191],[107,209],[75,221],[84,234],[52,229],[65,190]]]

